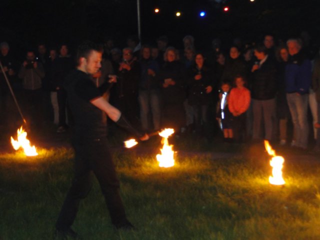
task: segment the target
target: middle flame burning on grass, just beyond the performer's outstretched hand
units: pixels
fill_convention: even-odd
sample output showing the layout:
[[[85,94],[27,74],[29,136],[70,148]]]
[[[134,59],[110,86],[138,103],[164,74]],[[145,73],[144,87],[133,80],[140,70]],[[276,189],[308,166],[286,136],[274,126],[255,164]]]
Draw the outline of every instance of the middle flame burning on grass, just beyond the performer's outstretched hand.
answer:
[[[160,149],[161,154],[156,155],[156,159],[161,167],[170,167],[174,165],[174,151],[172,150],[173,145],[168,144],[168,137],[173,132],[174,130],[172,128],[165,128],[159,132],[159,135],[162,136],[163,147]]]

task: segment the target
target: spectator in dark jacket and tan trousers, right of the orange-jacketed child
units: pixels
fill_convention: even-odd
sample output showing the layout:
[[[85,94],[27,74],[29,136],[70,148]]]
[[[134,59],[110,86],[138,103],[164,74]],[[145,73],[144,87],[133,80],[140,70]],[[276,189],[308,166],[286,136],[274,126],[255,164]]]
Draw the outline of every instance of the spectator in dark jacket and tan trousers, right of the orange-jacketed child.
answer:
[[[268,56],[267,49],[264,45],[255,46],[254,55],[258,59],[258,62],[254,64],[251,69],[251,98],[253,109],[252,138],[261,138],[261,123],[263,122],[263,139],[272,140],[274,138],[273,134],[276,119],[276,66],[273,59]]]

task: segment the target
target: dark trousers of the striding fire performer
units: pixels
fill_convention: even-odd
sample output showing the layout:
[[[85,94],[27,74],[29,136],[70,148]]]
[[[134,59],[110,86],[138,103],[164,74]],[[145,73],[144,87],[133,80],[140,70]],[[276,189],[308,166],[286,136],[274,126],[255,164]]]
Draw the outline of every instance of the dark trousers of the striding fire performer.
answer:
[[[63,230],[72,225],[80,200],[86,197],[92,187],[93,174],[100,184],[112,224],[123,222],[126,218],[119,194],[119,180],[106,138],[85,141],[77,139],[73,144],[75,176],[62,205],[56,228]]]

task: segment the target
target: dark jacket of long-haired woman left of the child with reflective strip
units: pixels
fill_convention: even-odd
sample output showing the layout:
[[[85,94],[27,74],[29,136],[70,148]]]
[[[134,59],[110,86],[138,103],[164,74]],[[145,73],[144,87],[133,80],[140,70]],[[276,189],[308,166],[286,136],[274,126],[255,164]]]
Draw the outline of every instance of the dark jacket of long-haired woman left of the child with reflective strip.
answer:
[[[194,76],[201,74],[202,78],[195,80]],[[206,87],[213,87],[213,72],[207,66],[198,69],[196,65],[192,65],[187,70],[188,80],[188,103],[190,105],[200,104],[205,105],[212,100],[211,92],[206,93]]]

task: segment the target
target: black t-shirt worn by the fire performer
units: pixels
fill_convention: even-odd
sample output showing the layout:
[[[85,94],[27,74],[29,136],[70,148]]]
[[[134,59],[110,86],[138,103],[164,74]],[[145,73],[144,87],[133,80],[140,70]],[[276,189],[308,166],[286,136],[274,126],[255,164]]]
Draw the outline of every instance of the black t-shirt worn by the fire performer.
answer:
[[[106,115],[90,102],[100,97],[101,93],[89,75],[75,69],[67,75],[64,87],[74,117],[75,136],[80,138],[106,136]]]

